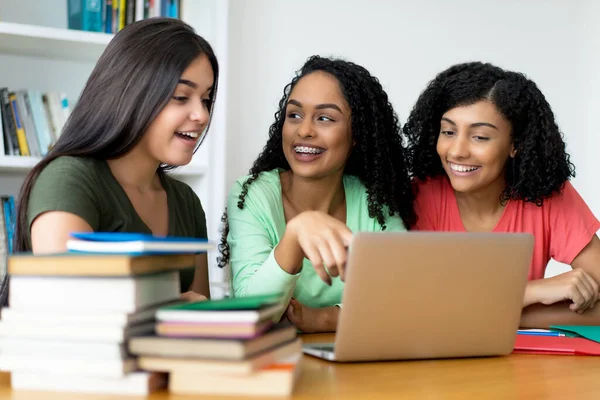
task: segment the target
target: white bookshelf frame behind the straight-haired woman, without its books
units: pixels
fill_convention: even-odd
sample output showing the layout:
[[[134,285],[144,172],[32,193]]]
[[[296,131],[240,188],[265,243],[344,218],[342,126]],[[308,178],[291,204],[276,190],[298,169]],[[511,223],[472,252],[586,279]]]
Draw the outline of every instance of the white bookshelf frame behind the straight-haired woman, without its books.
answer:
[[[213,46],[220,64],[219,95],[210,132],[189,165],[169,174],[192,187],[207,215],[209,238],[220,237],[225,206],[226,73],[228,0],[182,0],[181,19]],[[69,30],[67,0],[0,1],[0,87],[67,94],[71,109],[98,57],[114,35]],[[17,195],[38,157],[0,155],[0,194]],[[223,271],[209,254],[218,292]],[[213,293],[219,296],[219,293]]]

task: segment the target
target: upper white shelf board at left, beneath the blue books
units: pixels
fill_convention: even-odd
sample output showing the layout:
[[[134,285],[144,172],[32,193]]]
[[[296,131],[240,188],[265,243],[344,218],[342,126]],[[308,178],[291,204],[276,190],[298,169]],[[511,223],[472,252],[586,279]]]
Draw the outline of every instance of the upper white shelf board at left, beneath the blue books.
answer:
[[[0,53],[95,62],[113,36],[0,22]]]

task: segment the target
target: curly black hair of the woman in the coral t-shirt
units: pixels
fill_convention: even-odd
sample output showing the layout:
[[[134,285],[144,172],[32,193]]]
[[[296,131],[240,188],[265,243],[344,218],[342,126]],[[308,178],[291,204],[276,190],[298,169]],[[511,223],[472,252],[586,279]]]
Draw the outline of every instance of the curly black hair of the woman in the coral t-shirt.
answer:
[[[436,151],[442,115],[455,107],[492,102],[511,124],[516,155],[506,166],[500,201],[541,206],[575,176],[554,113],[537,85],[524,74],[489,63],[468,62],[439,73],[421,93],[403,127],[411,176],[426,180],[445,174]]]

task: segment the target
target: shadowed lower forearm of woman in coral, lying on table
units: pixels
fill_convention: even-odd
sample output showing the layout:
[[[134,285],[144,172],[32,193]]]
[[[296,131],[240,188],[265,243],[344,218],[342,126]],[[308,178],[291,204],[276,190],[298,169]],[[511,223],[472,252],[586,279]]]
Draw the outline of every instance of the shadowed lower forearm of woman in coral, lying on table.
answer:
[[[545,306],[532,304],[521,313],[521,328],[548,329],[551,325],[600,325],[600,304],[583,314],[569,309],[569,302]]]

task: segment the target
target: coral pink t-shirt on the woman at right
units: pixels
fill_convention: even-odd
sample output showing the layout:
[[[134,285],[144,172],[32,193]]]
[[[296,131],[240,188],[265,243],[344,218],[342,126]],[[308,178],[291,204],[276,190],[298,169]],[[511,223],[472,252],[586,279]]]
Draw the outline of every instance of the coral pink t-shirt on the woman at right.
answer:
[[[465,232],[454,189],[446,176],[419,182],[415,202],[416,230]],[[535,238],[529,279],[544,277],[550,258],[571,264],[600,229],[570,182],[561,194],[545,199],[542,206],[509,201],[493,232],[532,233]]]

